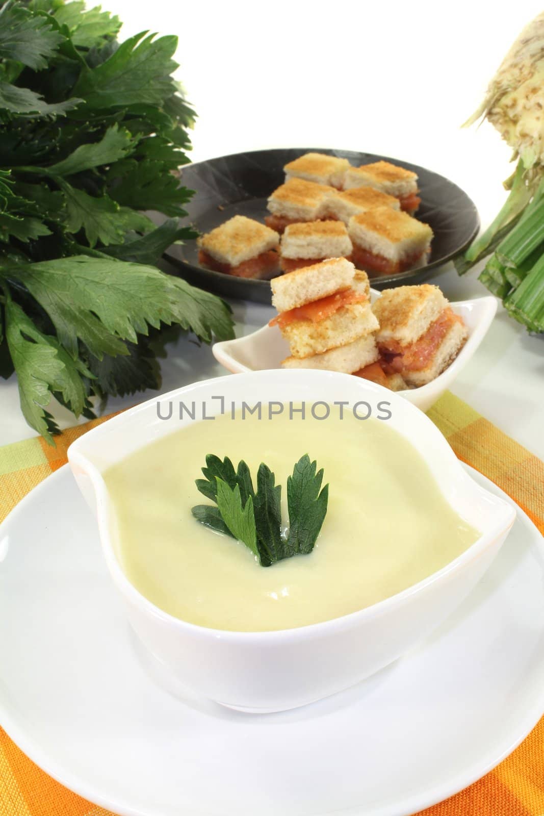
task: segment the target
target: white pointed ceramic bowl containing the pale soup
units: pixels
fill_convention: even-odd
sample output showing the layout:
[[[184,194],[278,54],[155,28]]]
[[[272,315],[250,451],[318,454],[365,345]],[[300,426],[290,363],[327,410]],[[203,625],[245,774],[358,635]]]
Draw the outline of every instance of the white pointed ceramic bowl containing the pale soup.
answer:
[[[104,468],[200,419],[205,410],[208,417],[219,414],[222,407],[229,413],[232,404],[241,406],[242,401],[250,405],[306,402],[310,410],[311,403],[330,401],[330,395],[338,392],[349,402],[345,410],[365,401],[376,415],[387,402],[391,428],[414,443],[445,499],[480,530],[480,539],[443,570],[405,592],[342,618],[278,632],[226,632],[196,626],[171,617],[140,595],[117,561]],[[179,403],[190,406],[192,401],[197,406],[193,419],[186,412],[179,419]],[[170,406],[175,410],[170,411]],[[360,407],[357,413],[361,415]],[[169,419],[160,418],[169,414]],[[509,504],[467,476],[440,431],[421,411],[374,383],[330,371],[260,371],[180,388],[93,428],[70,446],[69,463],[83,495],[95,508],[108,568],[141,641],[193,693],[249,712],[276,712],[312,703],[396,660],[462,602],[488,569],[515,518]]]

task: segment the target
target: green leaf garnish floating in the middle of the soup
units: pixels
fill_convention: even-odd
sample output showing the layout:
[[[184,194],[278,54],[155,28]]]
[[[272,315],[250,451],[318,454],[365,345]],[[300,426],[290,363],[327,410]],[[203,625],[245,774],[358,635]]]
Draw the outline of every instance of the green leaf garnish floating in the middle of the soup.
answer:
[[[217,507],[197,504],[192,515],[211,530],[245,543],[261,566],[307,555],[325,521],[329,499],[329,486],[321,490],[323,470],[316,472],[316,468],[316,462],[306,454],[287,479],[288,534],[281,530],[281,486],[275,484],[276,477],[264,463],[259,465],[255,492],[250,468],[244,461],[235,471],[228,457],[207,455],[206,468],[202,468],[206,478],[197,479],[196,485]]]

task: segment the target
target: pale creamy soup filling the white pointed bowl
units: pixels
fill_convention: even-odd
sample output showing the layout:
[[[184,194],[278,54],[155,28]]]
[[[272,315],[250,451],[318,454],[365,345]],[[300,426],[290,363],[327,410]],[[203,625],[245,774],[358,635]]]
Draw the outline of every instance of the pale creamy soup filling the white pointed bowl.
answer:
[[[325,521],[309,555],[268,567],[245,544],[210,530],[191,508],[206,455],[275,473],[287,523],[286,480],[304,454],[324,468]],[[453,561],[479,537],[445,501],[426,463],[387,421],[351,414],[195,422],[104,475],[122,569],[176,618],[266,631],[338,618],[382,601]]]

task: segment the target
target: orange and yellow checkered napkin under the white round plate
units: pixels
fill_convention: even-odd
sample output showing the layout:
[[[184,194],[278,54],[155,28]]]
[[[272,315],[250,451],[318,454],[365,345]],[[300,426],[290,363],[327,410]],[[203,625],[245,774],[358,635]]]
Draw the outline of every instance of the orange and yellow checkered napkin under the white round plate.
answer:
[[[428,415],[459,459],[502,487],[544,533],[544,463],[446,393]],[[0,519],[66,462],[71,442],[104,419],[70,428],[56,448],[30,439],[0,448]],[[0,816],[115,816],[56,783],[0,728]],[[511,756],[420,816],[544,816],[544,718]]]

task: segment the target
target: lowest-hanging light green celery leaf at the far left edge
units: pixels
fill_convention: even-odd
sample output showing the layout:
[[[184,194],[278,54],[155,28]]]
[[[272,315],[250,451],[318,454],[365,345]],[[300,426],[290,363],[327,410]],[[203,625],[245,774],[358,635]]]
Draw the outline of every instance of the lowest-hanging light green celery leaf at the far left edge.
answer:
[[[6,337],[19,384],[24,418],[32,428],[52,443],[57,430],[44,410],[51,396],[59,392],[74,414],[86,402],[82,375],[88,375],[81,361],[74,361],[55,338],[44,335],[11,297],[6,302]]]

